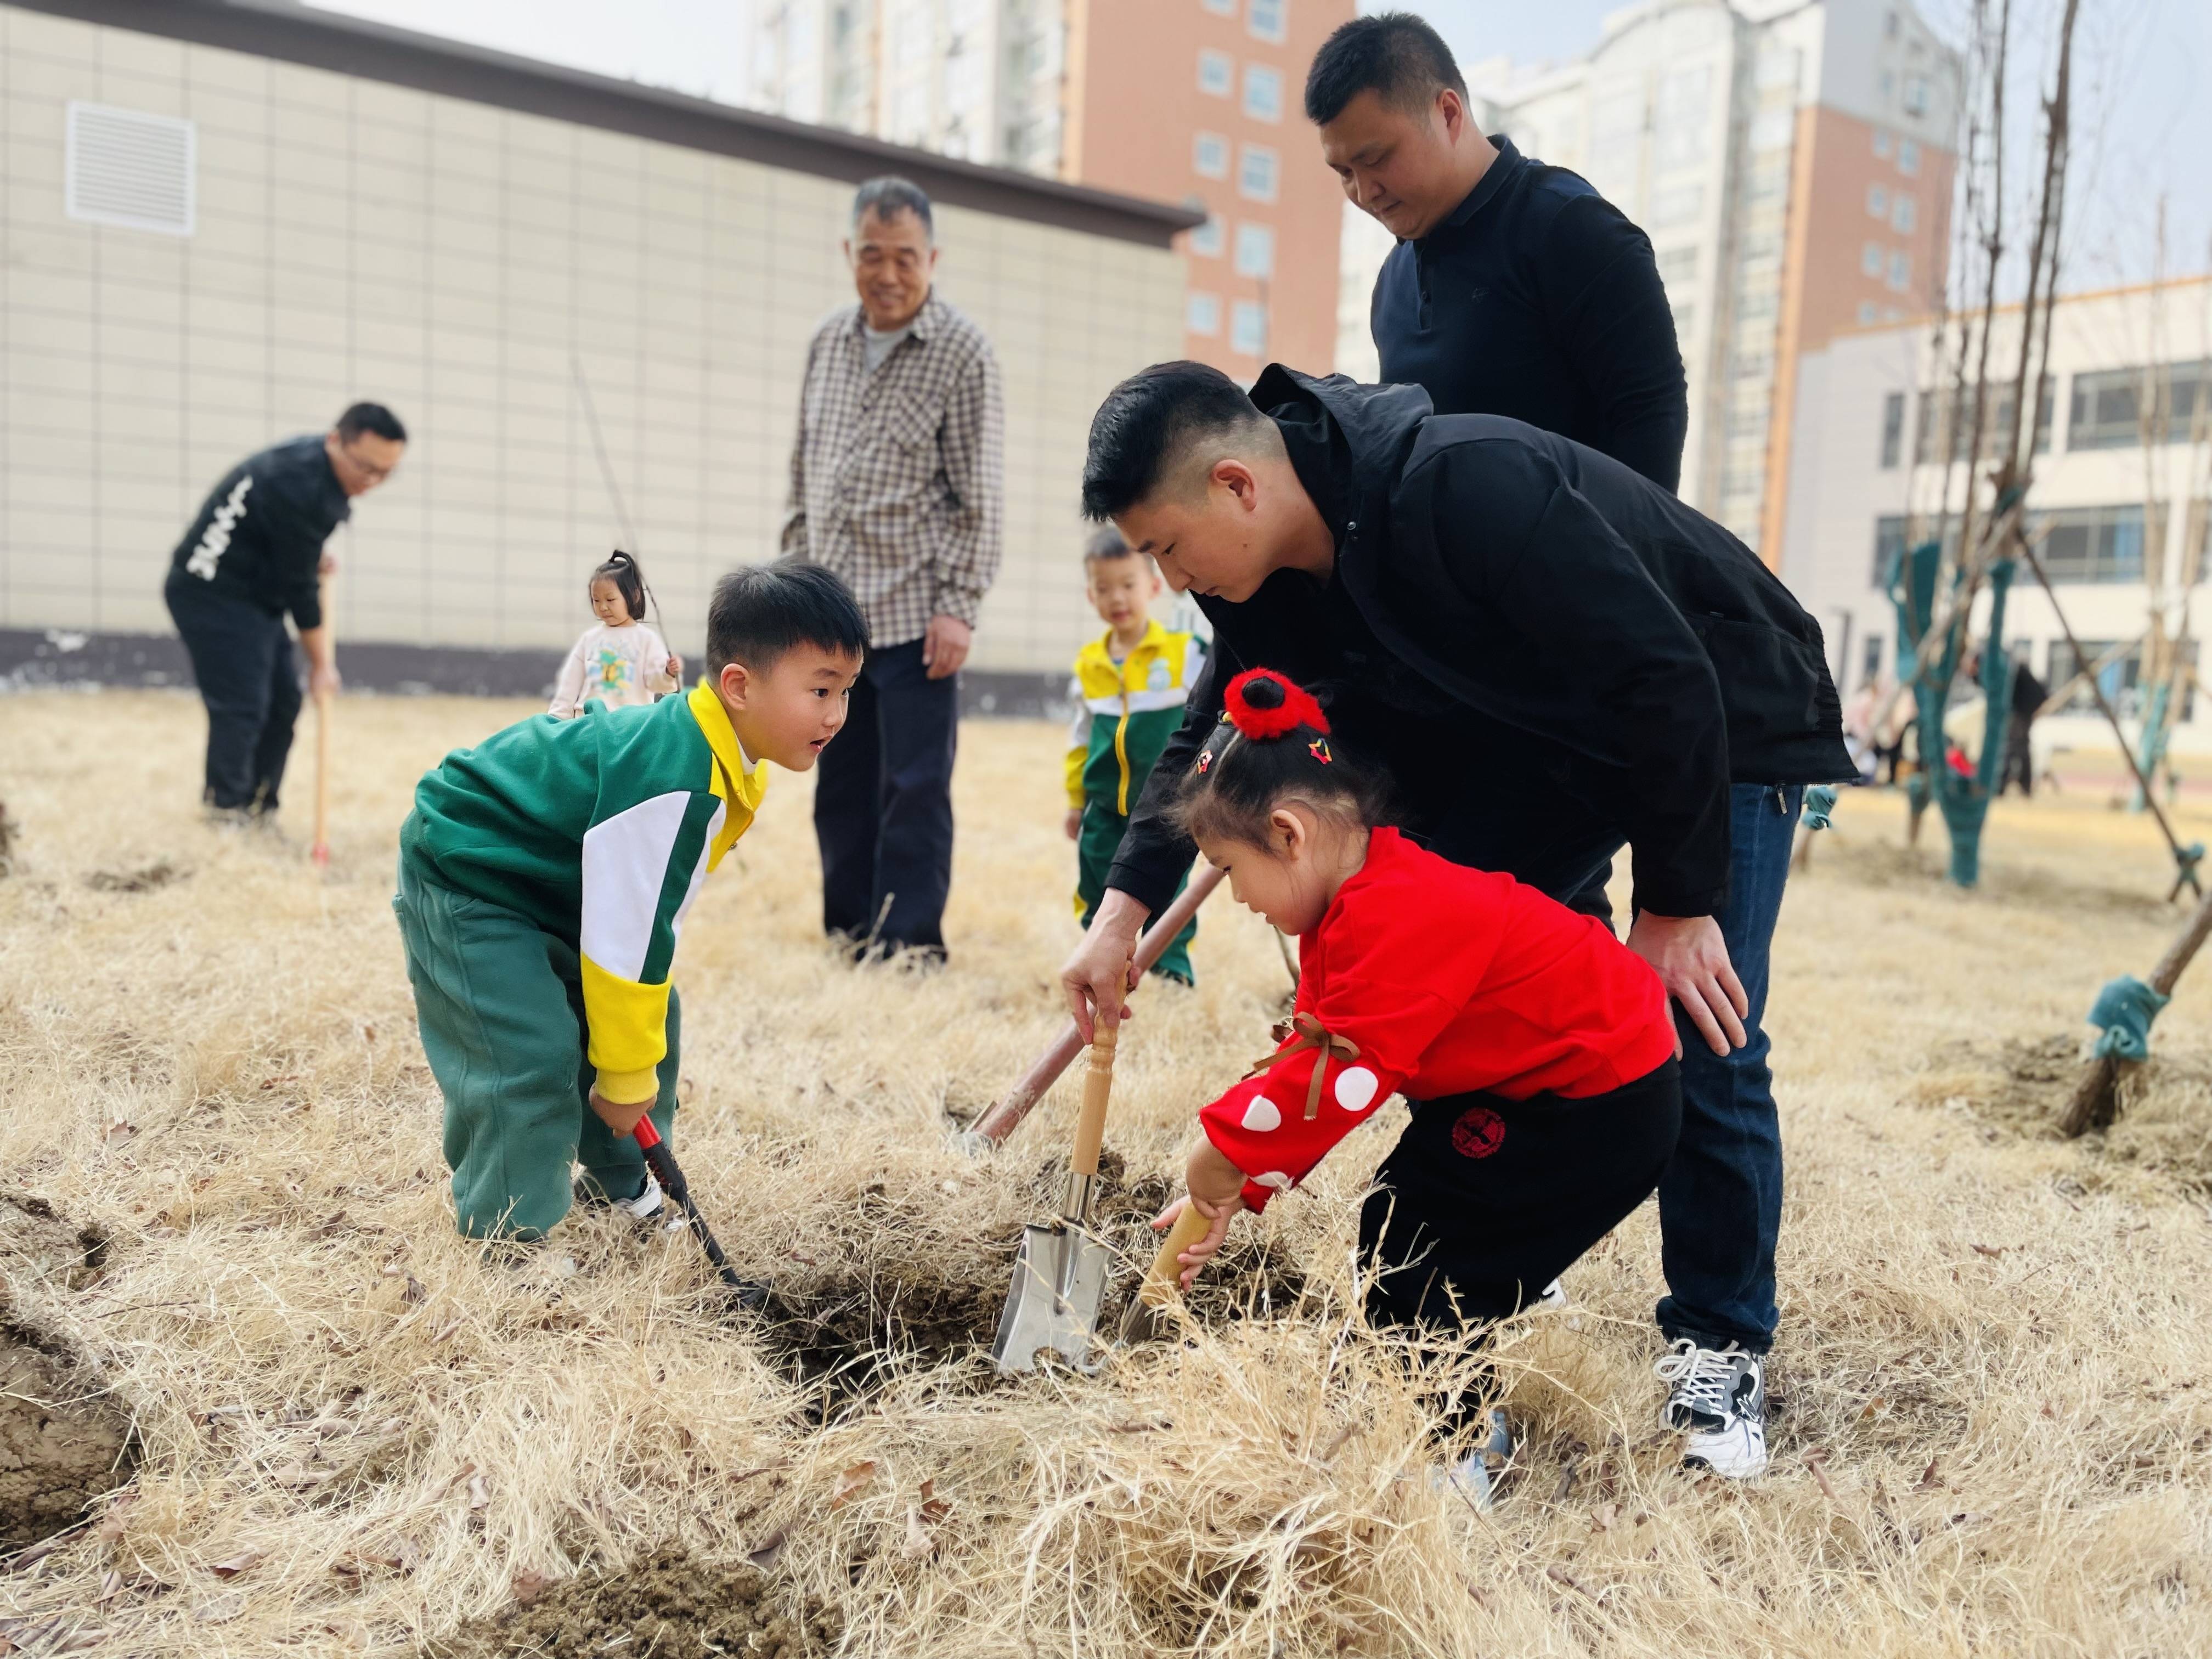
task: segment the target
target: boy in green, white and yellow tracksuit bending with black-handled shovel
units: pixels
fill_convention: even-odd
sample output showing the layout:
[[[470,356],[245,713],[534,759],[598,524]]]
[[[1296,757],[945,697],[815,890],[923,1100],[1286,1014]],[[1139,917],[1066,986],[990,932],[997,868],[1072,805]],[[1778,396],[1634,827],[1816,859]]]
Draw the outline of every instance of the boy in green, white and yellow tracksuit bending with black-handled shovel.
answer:
[[[573,1197],[661,1208],[630,1130],[650,1110],[670,1139],[684,914],[761,810],[768,761],[805,772],[836,737],[865,653],[823,566],[734,571],[690,697],[538,714],[422,776],[392,907],[465,1234],[542,1239],[577,1159]]]

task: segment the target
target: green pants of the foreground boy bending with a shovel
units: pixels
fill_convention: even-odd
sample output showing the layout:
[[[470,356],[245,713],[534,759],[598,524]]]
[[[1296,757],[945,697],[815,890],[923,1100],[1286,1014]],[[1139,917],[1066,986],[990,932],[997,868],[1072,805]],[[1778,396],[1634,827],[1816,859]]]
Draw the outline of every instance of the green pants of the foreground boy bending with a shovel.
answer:
[[[440,887],[400,858],[392,900],[407,945],[422,1053],[445,1095],[453,1214],[471,1239],[542,1239],[568,1214],[571,1166],[611,1197],[646,1190],[637,1141],[586,1104],[584,982],[575,947],[502,905]],[[668,1053],[653,1126],[677,1110],[679,1009],[668,991]]]

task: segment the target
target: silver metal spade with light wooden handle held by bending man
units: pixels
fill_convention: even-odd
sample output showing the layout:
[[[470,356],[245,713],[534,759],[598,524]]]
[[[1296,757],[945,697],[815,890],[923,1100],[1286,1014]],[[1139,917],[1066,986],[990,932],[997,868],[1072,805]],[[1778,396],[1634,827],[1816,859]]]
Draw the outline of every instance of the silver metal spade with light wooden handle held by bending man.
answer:
[[[1113,1093],[1113,1046],[1117,1026],[1097,1022],[1091,1068],[1084,1073],[1084,1108],[1075,1119],[1075,1152],[1060,1214],[1022,1230],[1022,1254],[1013,1263],[1013,1290],[998,1321],[991,1363],[1000,1371],[1033,1371],[1037,1354],[1051,1349],[1077,1369],[1093,1369],[1093,1336],[1099,1296],[1115,1252],[1091,1228],[1091,1201],[1099,1179],[1099,1141],[1106,1137],[1106,1097]]]

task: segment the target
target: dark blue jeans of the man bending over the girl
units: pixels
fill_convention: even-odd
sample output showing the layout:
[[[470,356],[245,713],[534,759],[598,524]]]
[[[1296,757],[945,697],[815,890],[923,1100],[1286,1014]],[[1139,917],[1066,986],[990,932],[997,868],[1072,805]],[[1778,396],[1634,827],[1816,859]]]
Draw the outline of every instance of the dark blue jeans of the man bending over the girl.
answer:
[[[1681,1141],[1659,1177],[1659,1259],[1668,1294],[1659,1329],[1705,1347],[1774,1343],[1774,1239],[1783,1223],[1783,1133],[1767,1068],[1767,960],[1790,878],[1805,790],[1736,783],[1728,814],[1728,909],[1721,936],[1743,980],[1750,1037],[1725,1060],[1674,1009],[1681,1033]]]

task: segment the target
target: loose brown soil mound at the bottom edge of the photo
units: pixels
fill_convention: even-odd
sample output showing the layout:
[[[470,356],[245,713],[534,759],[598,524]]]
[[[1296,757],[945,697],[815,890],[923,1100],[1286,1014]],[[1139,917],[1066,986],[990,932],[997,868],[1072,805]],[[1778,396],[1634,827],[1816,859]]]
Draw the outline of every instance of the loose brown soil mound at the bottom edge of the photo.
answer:
[[[710,1566],[661,1551],[626,1573],[566,1579],[436,1644],[442,1659],[615,1652],[684,1659],[812,1659],[843,1635],[836,1608],[743,1564]]]

